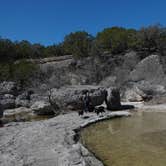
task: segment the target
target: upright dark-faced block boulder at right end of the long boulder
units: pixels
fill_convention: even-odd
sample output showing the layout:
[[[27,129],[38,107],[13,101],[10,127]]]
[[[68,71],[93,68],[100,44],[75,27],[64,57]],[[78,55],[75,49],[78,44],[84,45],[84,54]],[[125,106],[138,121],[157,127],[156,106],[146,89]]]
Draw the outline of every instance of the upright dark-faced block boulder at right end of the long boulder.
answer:
[[[106,105],[107,105],[108,110],[121,109],[119,89],[117,89],[117,88],[109,88],[108,89]]]

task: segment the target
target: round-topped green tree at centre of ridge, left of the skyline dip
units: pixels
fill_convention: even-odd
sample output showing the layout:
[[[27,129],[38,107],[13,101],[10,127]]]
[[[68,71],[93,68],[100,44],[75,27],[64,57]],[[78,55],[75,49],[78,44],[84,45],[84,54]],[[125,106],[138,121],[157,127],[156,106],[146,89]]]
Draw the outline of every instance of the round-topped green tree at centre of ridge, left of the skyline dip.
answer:
[[[93,37],[85,31],[70,33],[65,36],[63,47],[66,54],[75,57],[86,57],[90,55]]]

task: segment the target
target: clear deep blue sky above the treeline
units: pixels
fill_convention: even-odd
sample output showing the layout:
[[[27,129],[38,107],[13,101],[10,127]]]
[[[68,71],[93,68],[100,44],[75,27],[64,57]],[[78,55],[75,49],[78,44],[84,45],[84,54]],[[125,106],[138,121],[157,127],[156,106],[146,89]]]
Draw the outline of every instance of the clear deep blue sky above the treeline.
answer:
[[[166,25],[165,0],[0,0],[0,36],[49,45],[72,31]]]

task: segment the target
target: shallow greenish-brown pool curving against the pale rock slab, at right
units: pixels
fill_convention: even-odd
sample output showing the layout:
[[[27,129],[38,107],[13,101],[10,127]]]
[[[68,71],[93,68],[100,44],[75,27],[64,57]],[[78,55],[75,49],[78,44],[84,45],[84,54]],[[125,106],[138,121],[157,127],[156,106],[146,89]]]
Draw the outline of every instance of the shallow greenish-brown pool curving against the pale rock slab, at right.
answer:
[[[138,112],[99,122],[82,143],[106,166],[166,166],[166,112]]]

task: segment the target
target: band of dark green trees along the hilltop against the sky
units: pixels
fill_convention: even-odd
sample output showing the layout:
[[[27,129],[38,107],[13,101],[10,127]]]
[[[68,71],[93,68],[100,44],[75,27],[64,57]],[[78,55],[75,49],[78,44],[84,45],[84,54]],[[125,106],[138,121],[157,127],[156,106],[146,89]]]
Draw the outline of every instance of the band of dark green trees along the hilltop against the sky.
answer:
[[[0,38],[0,62],[66,54],[84,57],[100,55],[105,51],[111,54],[119,54],[128,49],[150,53],[157,51],[164,55],[166,51],[166,28],[160,25],[153,25],[140,30],[112,27],[98,32],[96,36],[85,31],[77,31],[65,36],[62,43],[51,46],[31,44],[26,40],[12,42],[9,39]]]

